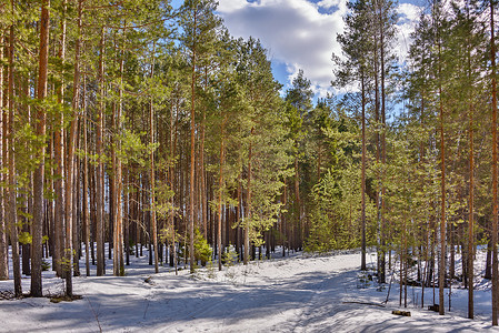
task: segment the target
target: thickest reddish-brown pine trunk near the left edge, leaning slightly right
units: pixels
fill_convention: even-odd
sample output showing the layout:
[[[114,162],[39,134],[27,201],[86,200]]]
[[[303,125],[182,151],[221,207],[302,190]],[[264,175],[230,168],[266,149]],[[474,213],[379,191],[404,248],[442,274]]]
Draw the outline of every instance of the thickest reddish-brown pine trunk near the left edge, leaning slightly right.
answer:
[[[47,75],[49,64],[49,8],[50,0],[42,1],[40,18],[40,53],[39,53],[39,73],[38,73],[38,100],[43,101],[47,97]],[[46,135],[46,110],[41,107],[37,112],[37,135]],[[41,261],[42,261],[42,236],[43,236],[43,183],[44,183],[44,147],[38,151],[39,164],[33,174],[33,222],[32,222],[32,250],[31,250],[31,296],[41,297]],[[11,202],[12,203],[12,202]]]

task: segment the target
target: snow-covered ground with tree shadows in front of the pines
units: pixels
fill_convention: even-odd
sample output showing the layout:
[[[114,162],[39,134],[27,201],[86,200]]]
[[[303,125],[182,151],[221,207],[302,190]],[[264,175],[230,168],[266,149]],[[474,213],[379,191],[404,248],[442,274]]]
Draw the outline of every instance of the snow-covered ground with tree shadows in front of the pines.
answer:
[[[400,307],[397,284],[383,304],[388,284],[380,289],[363,279],[359,253],[275,256],[221,272],[200,269],[192,276],[188,270],[176,275],[167,266],[152,274],[147,259],[133,258],[127,276],[97,278],[92,271],[93,276],[74,278],[81,300],[0,300],[0,332],[499,332],[490,325],[487,283],[476,290],[475,320],[466,319],[463,289],[452,289],[451,311],[446,296],[441,316],[427,310],[431,289],[425,292],[426,309],[420,287],[412,286],[408,307]],[[369,254],[368,263],[375,262],[376,254]],[[62,280],[44,274],[44,294],[62,293]],[[12,284],[0,281],[0,291],[13,290]],[[29,290],[28,276],[22,286]],[[393,310],[411,316],[393,315]]]

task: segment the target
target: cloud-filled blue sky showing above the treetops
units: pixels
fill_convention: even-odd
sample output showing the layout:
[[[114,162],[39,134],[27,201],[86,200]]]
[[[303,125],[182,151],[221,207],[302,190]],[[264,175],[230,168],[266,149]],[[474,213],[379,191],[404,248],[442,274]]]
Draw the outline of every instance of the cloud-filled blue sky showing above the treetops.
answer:
[[[250,36],[261,40],[269,51],[273,74],[286,90],[299,69],[312,82],[316,97],[333,92],[331,54],[341,54],[336,42],[343,31],[342,16],[347,0],[218,0],[218,13],[236,37]],[[407,53],[409,34],[419,16],[422,0],[400,1],[398,12],[401,23],[395,49],[400,58]],[[173,0],[173,7],[182,0]]]

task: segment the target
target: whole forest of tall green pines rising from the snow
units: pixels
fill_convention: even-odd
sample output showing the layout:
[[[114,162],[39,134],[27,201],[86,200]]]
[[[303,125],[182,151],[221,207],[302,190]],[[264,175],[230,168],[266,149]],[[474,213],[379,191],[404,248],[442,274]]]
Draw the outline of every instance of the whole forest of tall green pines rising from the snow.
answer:
[[[377,246],[378,282],[396,256],[441,297],[462,279],[472,317],[487,245],[497,300],[496,3],[429,3],[401,63],[396,3],[349,2],[331,78],[353,89],[317,102],[303,71],[281,94],[261,43],[232,38],[216,8],[0,3],[0,279],[11,260],[16,295],[21,271],[43,294],[49,256],[71,296],[80,255],[87,274],[112,260],[122,275],[143,246],[156,272],[246,264],[263,244],[360,246],[366,269]]]

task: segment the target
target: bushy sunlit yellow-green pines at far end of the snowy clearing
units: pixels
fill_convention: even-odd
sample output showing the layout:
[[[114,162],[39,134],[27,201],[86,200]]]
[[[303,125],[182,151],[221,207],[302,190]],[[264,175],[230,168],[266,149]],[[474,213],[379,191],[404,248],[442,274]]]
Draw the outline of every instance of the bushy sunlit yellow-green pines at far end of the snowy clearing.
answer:
[[[335,117],[326,103],[313,110],[316,121],[322,124],[316,138],[328,157],[322,161],[326,171],[311,192],[311,228],[305,246],[309,252],[360,248],[359,132],[357,123],[348,120],[341,109],[336,112]],[[367,204],[367,243],[373,245],[376,206],[372,200]]]

